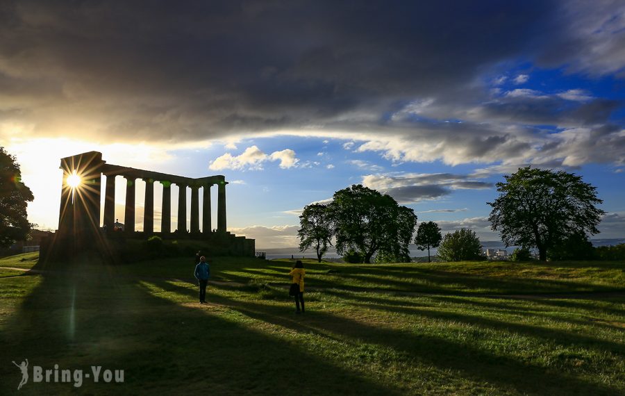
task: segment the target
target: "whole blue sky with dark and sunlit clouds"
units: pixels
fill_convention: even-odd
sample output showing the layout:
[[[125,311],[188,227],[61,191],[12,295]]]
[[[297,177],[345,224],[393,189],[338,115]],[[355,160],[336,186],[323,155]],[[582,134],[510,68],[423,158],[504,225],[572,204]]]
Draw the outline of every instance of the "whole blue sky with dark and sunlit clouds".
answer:
[[[40,228],[60,158],[101,151],[223,174],[228,231],[260,249],[297,246],[303,206],[356,183],[499,240],[487,202],[526,165],[583,176],[596,237],[625,238],[625,2],[7,0],[0,145]],[[142,202],[140,181],[138,229]]]

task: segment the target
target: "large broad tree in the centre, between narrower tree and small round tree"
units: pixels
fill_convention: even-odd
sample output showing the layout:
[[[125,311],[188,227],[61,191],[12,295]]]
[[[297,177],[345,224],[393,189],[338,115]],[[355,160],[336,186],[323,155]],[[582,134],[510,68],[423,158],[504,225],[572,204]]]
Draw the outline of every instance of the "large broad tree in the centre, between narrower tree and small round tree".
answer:
[[[405,261],[417,216],[390,195],[357,184],[334,193],[329,205],[339,254],[353,249],[371,263],[380,252],[387,259]]]

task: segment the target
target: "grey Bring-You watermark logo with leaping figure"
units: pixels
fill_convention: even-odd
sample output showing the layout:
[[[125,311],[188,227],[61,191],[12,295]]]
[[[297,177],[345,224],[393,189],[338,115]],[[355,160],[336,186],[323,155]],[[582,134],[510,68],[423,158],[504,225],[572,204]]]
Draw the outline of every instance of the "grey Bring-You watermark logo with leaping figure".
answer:
[[[75,388],[83,386],[83,381],[88,379],[94,383],[123,383],[124,370],[103,369],[101,365],[92,365],[90,370],[59,368],[55,364],[51,369],[42,368],[40,365],[33,365],[31,372],[28,372],[28,359],[24,359],[22,363],[12,362],[19,371],[22,372],[22,380],[19,381],[17,390],[28,383],[28,379],[32,378],[33,383],[72,383]]]

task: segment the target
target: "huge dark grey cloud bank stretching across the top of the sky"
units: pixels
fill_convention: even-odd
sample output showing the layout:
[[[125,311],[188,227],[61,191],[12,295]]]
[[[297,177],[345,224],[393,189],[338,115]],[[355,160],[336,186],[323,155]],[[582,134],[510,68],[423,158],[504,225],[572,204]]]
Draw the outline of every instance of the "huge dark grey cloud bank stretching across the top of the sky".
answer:
[[[38,136],[149,142],[314,126],[364,133],[360,149],[392,160],[529,160],[551,145],[550,158],[533,162],[565,163],[565,145],[538,127],[597,129],[622,104],[520,85],[493,96],[483,79],[519,58],[622,71],[623,6],[597,4],[5,1],[0,122]],[[619,131],[602,139],[624,140]]]

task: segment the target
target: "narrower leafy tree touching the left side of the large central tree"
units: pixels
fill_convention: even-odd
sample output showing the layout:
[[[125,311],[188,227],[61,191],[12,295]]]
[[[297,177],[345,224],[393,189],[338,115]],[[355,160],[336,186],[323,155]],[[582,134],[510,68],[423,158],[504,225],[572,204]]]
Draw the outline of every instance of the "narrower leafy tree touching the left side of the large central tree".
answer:
[[[301,229],[297,230],[299,236],[299,250],[304,251],[315,247],[317,261],[321,263],[322,257],[328,251],[328,245],[332,246],[333,224],[328,206],[311,204],[304,206],[299,216]]]

